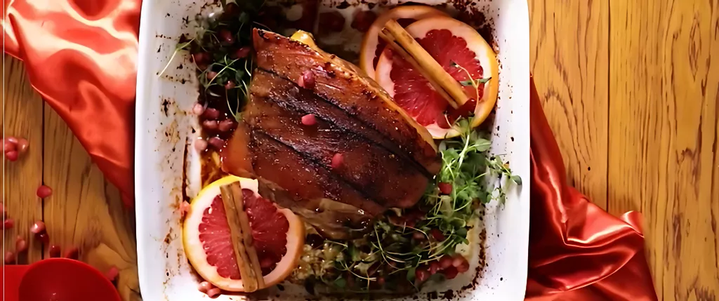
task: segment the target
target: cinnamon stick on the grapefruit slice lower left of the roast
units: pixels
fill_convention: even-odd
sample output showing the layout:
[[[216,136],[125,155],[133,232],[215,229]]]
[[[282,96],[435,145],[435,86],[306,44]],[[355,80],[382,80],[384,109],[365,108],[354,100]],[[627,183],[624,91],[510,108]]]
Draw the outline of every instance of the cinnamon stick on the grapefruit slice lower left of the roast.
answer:
[[[239,182],[233,182],[229,185],[222,185],[220,193],[232,237],[234,258],[237,259],[244,291],[261,290],[265,288],[265,280],[262,278],[260,259],[257,258],[257,251],[252,243],[252,228],[249,227],[249,218],[244,212],[242,187]]]

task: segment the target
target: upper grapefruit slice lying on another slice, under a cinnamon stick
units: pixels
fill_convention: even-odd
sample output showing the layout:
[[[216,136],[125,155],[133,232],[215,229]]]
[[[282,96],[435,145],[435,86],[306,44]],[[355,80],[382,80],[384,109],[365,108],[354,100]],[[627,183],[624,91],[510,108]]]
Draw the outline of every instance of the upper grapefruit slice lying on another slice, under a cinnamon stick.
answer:
[[[454,121],[460,117],[471,118],[472,127],[487,119],[497,101],[499,67],[497,55],[477,30],[441,16],[418,20],[405,29],[474,97],[461,108],[452,108],[410,63],[385,47],[377,61],[375,80],[395,103],[434,139],[459,135]]]

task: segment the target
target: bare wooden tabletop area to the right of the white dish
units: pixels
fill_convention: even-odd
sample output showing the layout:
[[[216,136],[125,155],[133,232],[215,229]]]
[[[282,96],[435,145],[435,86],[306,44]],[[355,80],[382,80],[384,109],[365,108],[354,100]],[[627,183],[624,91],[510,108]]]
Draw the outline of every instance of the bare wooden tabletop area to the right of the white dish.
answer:
[[[659,300],[718,300],[719,1],[529,4],[569,178],[610,213],[644,214]]]

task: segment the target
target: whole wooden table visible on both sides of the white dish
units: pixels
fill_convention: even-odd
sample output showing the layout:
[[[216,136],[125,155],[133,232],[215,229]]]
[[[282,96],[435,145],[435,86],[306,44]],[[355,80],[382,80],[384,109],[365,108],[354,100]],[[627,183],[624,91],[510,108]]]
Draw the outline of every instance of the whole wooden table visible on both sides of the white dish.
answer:
[[[531,70],[569,180],[610,213],[644,213],[659,300],[717,300],[719,1],[529,3]],[[5,244],[44,220],[50,244],[115,265],[124,300],[139,299],[133,214],[22,63],[4,67],[5,132],[31,144],[6,165],[4,202],[17,223]],[[54,190],[44,201],[41,183]],[[22,260],[47,257],[30,241]]]

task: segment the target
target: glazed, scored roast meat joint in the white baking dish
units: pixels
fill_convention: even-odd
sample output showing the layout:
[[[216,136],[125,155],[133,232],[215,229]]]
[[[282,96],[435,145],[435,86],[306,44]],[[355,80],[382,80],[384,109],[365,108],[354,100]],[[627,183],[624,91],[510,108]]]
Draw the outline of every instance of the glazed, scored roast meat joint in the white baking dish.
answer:
[[[332,239],[420,200],[440,167],[426,129],[365,73],[313,43],[257,29],[253,39],[257,68],[222,155],[226,172],[256,177],[261,195]]]

